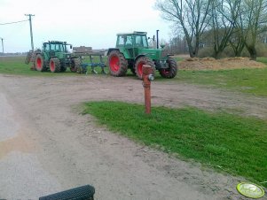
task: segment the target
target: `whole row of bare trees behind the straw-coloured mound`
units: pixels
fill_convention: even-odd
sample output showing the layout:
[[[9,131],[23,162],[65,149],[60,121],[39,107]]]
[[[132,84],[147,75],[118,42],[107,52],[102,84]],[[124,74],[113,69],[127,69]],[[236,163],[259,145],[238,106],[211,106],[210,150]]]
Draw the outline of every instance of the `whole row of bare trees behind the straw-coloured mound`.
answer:
[[[256,44],[267,30],[267,0],[157,0],[156,8],[183,33],[170,43],[186,42],[191,58],[203,47],[212,47],[211,56],[220,58],[231,47],[234,56],[246,49],[255,59]]]

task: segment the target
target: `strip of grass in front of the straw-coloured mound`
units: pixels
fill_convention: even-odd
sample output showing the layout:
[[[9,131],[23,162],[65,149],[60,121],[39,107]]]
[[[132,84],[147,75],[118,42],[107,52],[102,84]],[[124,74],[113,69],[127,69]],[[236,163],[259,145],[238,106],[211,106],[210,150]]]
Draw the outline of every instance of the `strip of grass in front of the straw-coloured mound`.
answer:
[[[220,71],[181,70],[178,72],[175,81],[227,88],[255,96],[267,96],[267,67]]]

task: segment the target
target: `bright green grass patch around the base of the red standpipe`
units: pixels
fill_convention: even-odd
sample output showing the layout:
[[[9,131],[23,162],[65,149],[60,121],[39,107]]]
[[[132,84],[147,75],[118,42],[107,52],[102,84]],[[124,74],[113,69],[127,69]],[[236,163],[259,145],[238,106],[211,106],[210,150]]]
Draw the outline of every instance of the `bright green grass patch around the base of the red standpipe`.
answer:
[[[267,181],[267,121],[196,108],[153,107],[152,114],[145,115],[138,104],[90,102],[84,106],[83,114],[92,114],[101,125],[137,142],[185,160],[222,166],[251,181]]]

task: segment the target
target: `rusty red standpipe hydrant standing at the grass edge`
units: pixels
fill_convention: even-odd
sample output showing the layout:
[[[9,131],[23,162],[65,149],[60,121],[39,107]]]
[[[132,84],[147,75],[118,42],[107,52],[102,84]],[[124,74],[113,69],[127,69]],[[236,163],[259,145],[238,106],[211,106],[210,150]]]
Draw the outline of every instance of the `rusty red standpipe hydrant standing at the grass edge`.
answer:
[[[145,89],[145,113],[151,113],[151,81],[153,81],[153,68],[151,65],[143,65],[142,67],[142,79]]]

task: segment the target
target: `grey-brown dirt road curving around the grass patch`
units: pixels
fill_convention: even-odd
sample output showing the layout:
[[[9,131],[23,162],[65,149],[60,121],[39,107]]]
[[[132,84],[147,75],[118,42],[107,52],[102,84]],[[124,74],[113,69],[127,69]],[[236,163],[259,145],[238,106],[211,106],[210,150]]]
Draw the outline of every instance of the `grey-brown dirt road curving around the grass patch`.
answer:
[[[0,199],[36,199],[91,184],[96,199],[246,199],[242,178],[137,145],[79,114],[91,100],[143,102],[141,81],[110,76],[0,75]],[[267,119],[266,99],[153,82],[153,104]]]

